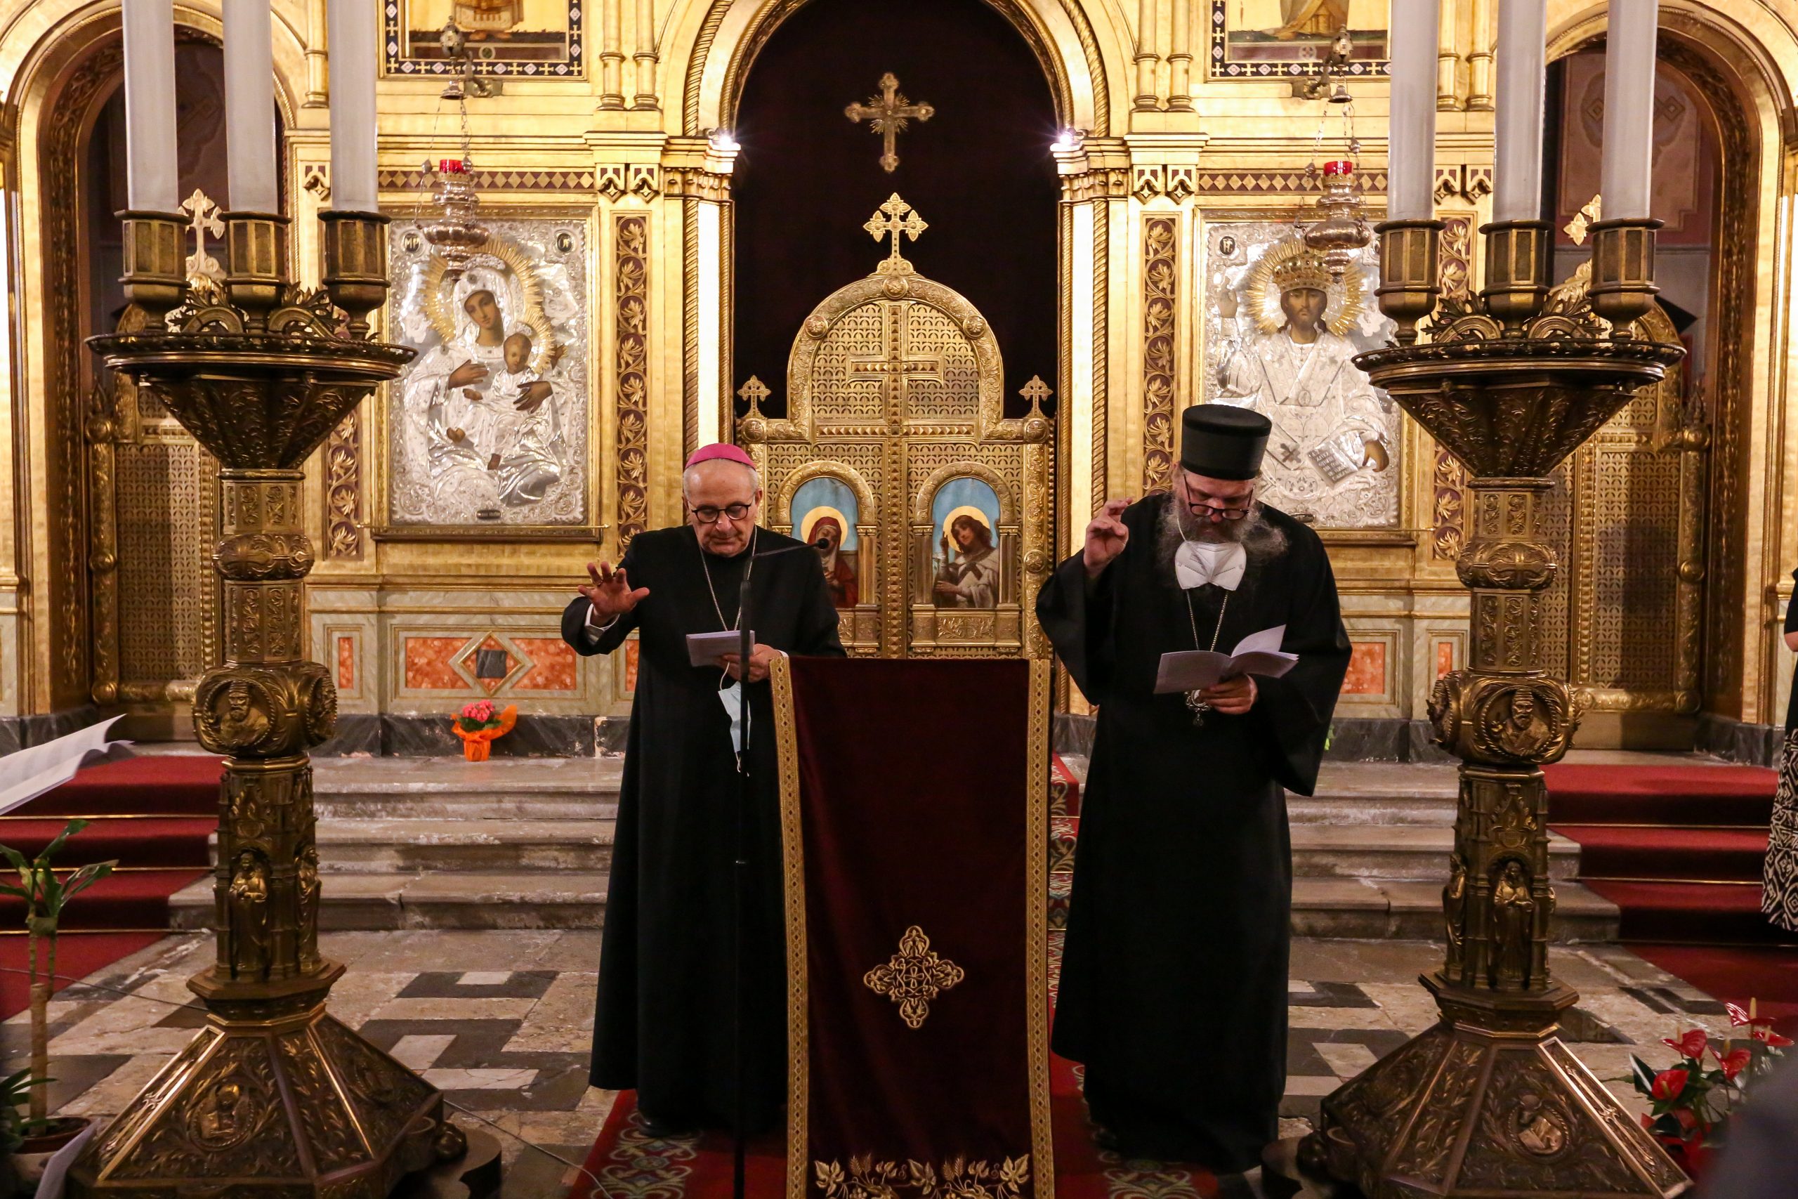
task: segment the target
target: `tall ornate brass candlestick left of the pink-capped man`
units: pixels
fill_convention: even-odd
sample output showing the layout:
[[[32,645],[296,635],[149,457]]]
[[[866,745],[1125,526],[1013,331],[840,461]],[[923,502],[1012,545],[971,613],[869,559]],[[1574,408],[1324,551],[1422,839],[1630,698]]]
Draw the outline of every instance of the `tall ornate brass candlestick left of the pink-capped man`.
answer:
[[[385,218],[331,214],[325,288],[286,271],[286,219],[230,214],[225,297],[187,295],[160,214],[126,214],[140,333],[90,338],[219,460],[225,665],[194,692],[200,744],[227,755],[219,795],[218,962],[189,987],[207,1026],[70,1172],[86,1195],[385,1195],[457,1156],[442,1095],[325,1014],[343,967],[318,955],[313,769],[336,688],[300,658],[313,546],[300,469],[343,415],[412,360],[367,338]],[[379,289],[376,289],[379,288]],[[338,309],[351,315],[340,327]]]

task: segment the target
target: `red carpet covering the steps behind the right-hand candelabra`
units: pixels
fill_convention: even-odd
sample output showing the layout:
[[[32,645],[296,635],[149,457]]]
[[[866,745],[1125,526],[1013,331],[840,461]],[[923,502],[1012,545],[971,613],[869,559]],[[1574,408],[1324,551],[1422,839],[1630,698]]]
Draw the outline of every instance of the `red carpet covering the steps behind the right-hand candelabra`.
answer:
[[[1579,841],[1580,883],[1622,910],[1625,942],[1798,940],[1760,915],[1775,771],[1669,764],[1543,773],[1550,827]]]

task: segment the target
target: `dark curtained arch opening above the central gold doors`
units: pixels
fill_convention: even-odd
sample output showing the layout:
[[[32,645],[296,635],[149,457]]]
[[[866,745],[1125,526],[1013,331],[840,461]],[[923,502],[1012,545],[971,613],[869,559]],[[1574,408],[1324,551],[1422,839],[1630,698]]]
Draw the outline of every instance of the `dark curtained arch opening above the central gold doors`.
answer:
[[[885,72],[937,110],[899,135],[890,174],[879,137],[843,115]],[[904,255],[992,325],[1007,413],[1028,410],[1018,388],[1030,376],[1059,397],[1055,102],[1005,16],[980,0],[814,0],[755,56],[732,133],[743,147],[732,390],[753,374],[773,390],[762,410],[786,412],[793,334],[818,300],[874,270],[883,250],[861,226],[899,192],[930,223]]]

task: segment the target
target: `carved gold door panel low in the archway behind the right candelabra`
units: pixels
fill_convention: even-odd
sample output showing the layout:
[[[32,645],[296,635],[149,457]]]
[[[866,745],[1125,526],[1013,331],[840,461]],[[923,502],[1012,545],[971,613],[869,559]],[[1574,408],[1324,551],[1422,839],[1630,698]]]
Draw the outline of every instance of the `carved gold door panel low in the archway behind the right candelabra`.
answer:
[[[1660,309],[1642,331],[1678,343]],[[1674,367],[1624,406],[1555,471],[1544,509],[1561,568],[1543,647],[1586,703],[1589,746],[1688,744],[1699,706],[1708,439],[1683,390]]]

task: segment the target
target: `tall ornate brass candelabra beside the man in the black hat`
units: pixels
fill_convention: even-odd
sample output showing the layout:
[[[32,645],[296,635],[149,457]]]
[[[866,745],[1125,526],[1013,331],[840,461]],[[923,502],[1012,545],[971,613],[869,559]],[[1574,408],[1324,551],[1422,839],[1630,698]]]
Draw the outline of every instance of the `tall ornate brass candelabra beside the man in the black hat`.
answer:
[[[1548,971],[1555,893],[1541,769],[1566,753],[1580,712],[1543,669],[1541,597],[1557,563],[1537,511],[1548,473],[1683,354],[1633,336],[1656,295],[1656,226],[1595,225],[1593,282],[1579,302],[1550,300],[1543,221],[1485,226],[1487,286],[1467,300],[1440,298],[1440,221],[1377,230],[1379,304],[1399,334],[1356,363],[1473,476],[1456,563],[1473,609],[1467,669],[1429,697],[1437,744],[1462,759],[1442,888],[1447,947],[1422,978],[1442,1021],[1327,1097],[1300,1147],[1304,1165],[1370,1199],[1665,1197],[1687,1185],[1557,1035],[1579,996]]]

